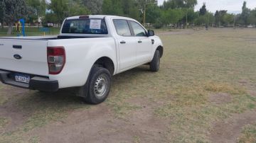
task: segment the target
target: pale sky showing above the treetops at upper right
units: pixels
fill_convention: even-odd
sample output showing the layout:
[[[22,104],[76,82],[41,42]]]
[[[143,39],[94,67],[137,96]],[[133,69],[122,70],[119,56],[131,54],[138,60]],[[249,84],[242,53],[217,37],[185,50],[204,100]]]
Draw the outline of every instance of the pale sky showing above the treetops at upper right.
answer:
[[[242,3],[245,0],[198,0],[198,5],[195,10],[198,11],[203,2],[206,2],[208,11],[215,13],[217,10],[228,10],[228,13],[240,13],[242,11]],[[246,0],[247,8],[256,8],[256,0]],[[164,3],[164,0],[158,0],[159,5]]]

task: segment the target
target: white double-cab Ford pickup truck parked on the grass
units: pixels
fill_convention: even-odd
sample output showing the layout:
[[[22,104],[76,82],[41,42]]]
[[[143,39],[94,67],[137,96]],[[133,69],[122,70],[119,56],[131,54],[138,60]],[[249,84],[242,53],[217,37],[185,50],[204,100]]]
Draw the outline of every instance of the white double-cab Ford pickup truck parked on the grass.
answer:
[[[97,104],[113,75],[142,64],[158,71],[163,52],[154,31],[132,18],[74,16],[58,36],[0,38],[0,80],[46,92],[78,87],[78,96]]]

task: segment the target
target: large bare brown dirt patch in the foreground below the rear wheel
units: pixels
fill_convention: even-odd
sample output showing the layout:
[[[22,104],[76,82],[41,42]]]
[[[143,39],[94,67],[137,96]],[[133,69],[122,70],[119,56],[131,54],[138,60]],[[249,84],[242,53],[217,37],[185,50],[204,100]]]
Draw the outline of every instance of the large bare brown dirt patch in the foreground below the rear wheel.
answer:
[[[154,117],[150,105],[139,105],[142,108],[125,119],[114,118],[105,103],[75,110],[65,120],[33,130],[31,135],[40,137],[41,142],[167,142],[166,122]]]

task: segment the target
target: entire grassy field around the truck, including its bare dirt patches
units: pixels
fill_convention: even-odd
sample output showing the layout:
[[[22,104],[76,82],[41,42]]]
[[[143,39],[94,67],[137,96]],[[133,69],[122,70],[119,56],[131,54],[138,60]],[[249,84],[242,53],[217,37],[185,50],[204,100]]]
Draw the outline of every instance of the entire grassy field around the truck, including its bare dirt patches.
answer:
[[[256,29],[156,33],[161,70],[114,76],[100,105],[0,84],[0,142],[256,142]]]

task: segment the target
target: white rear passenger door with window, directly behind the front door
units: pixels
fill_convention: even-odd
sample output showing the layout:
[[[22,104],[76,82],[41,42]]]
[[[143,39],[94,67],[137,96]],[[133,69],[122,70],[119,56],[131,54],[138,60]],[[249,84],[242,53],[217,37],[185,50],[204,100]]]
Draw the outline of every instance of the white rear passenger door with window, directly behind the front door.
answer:
[[[127,20],[114,19],[114,27],[117,31],[117,43],[119,47],[119,70],[124,71],[134,67],[136,62],[137,40],[132,37]]]

